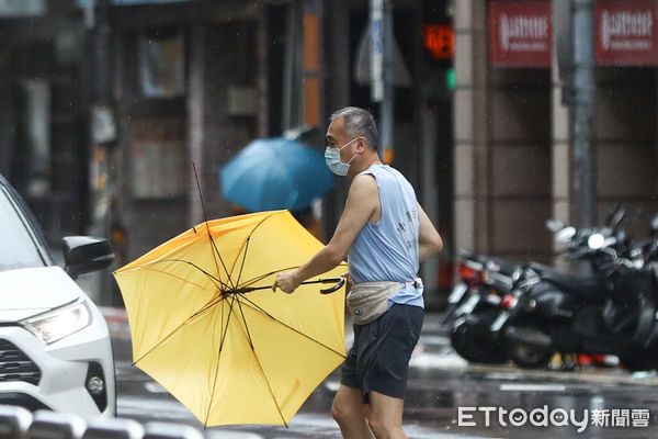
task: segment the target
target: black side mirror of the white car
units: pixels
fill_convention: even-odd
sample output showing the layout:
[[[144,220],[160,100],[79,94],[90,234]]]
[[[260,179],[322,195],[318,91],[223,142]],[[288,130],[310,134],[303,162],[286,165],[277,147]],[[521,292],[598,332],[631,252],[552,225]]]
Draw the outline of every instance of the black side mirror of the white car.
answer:
[[[65,270],[73,279],[80,274],[102,270],[114,260],[112,246],[106,239],[90,236],[67,236],[64,244]]]

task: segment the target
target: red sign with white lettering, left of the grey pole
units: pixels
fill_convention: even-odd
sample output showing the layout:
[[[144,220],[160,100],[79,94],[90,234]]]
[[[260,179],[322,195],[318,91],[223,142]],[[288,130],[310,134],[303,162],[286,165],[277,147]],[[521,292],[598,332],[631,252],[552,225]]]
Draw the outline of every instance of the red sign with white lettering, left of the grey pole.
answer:
[[[551,66],[551,1],[491,1],[489,31],[491,65]]]

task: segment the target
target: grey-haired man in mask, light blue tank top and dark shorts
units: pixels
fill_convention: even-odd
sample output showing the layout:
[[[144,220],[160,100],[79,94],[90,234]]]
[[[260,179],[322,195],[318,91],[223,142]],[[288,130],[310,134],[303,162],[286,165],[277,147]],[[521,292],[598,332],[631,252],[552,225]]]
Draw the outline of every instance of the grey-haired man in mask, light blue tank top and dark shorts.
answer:
[[[419,262],[441,251],[441,236],[405,177],[377,155],[377,126],[363,109],[330,117],[327,166],[352,179],[333,237],[272,285],[292,293],[348,258],[354,345],[331,414],[344,438],[406,438],[402,409],[409,359],[423,319]]]

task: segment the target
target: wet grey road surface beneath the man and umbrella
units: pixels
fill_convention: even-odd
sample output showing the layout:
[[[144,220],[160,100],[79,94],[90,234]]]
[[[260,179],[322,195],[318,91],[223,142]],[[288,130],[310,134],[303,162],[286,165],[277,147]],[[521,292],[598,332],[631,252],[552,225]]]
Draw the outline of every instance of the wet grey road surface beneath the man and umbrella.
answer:
[[[658,436],[658,378],[616,368],[523,371],[467,364],[428,315],[411,360],[405,431],[409,438],[653,438]],[[116,357],[118,416],[173,421],[203,429],[160,385],[131,365],[125,325],[111,324]],[[329,415],[339,375],[331,374],[288,428],[230,426],[213,430],[263,438],[341,438]]]

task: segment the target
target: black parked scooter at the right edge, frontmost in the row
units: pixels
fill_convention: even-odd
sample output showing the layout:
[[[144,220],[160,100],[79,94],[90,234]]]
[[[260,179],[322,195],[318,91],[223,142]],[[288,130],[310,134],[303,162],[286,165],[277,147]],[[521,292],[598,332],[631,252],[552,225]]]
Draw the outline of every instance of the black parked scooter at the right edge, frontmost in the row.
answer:
[[[558,232],[563,238],[571,235],[567,252],[590,261],[593,274],[525,268],[490,327],[512,361],[536,368],[554,352],[585,352],[617,356],[629,370],[658,368],[658,284],[649,263],[658,258],[658,215],[651,225],[653,239],[635,246],[619,222],[612,228]]]

